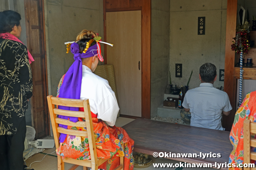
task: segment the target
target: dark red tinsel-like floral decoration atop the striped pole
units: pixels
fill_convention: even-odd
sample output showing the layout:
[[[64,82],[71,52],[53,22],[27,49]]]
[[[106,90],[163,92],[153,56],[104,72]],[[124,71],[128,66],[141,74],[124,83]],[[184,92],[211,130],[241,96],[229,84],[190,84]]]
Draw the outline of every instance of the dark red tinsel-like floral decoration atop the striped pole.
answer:
[[[248,41],[248,33],[250,28],[250,23],[245,21],[243,25],[239,25],[236,27],[236,37],[233,38],[235,41],[232,41],[231,49],[239,54],[243,51],[243,54],[248,53],[250,49],[249,41]]]

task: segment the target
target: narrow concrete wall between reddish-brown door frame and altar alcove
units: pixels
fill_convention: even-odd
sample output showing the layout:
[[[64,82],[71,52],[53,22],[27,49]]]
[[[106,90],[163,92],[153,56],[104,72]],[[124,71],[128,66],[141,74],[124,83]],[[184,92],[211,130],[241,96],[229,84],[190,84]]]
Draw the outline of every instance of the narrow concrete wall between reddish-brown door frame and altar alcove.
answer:
[[[168,85],[170,1],[151,0],[151,118]]]

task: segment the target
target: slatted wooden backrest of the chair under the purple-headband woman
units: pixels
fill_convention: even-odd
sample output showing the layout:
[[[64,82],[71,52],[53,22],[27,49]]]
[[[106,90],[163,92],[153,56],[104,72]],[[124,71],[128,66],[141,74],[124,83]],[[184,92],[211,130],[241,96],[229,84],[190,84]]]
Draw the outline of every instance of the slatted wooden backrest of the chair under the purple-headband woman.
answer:
[[[64,99],[64,98],[52,97],[52,95],[49,95],[47,96],[47,101],[48,101],[51,122],[52,122],[52,130],[53,130],[56,149],[59,148],[60,133],[74,135],[74,136],[88,137],[91,161],[92,163],[95,163],[97,165],[98,158],[97,158],[97,152],[96,152],[96,144],[94,139],[92,115],[91,115],[89,100],[88,99],[84,99],[84,100]],[[84,112],[62,110],[62,109],[56,108],[55,105],[67,106],[67,107],[84,107]],[[57,115],[82,117],[82,118],[85,118],[85,122],[78,121],[74,123],[66,119],[60,119],[57,117]],[[59,127],[58,124],[76,126],[76,127],[86,127],[87,131],[64,129]]]

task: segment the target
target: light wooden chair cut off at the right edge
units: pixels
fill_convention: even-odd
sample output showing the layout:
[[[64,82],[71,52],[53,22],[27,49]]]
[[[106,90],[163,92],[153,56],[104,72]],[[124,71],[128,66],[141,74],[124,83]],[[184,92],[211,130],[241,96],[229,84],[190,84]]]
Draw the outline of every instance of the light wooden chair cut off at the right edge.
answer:
[[[251,152],[251,146],[256,147],[256,139],[251,138],[251,133],[256,134],[256,123],[244,120],[244,164],[250,164],[251,159],[256,160],[256,152]],[[244,170],[256,170],[256,168],[244,167]]]

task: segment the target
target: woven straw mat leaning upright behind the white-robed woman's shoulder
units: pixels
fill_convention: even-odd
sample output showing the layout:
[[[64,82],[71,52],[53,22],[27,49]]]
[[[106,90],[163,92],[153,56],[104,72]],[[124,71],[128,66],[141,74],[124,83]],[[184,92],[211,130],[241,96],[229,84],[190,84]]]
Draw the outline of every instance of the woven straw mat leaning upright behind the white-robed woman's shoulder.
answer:
[[[115,92],[116,95],[116,100],[117,100],[117,92],[116,92],[116,79],[115,79],[115,71],[114,71],[114,66],[113,65],[98,65],[94,71],[94,74],[100,76],[101,78],[104,78],[108,80],[108,84]],[[119,112],[117,114],[117,117],[119,117]]]

